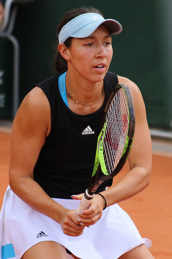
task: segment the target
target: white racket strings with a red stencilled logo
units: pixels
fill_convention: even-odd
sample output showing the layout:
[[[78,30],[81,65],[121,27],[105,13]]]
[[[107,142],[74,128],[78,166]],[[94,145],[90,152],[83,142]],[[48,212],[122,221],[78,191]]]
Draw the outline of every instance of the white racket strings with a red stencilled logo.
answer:
[[[103,127],[103,157],[107,173],[114,171],[124,152],[128,133],[129,112],[122,88],[114,94],[107,109]]]

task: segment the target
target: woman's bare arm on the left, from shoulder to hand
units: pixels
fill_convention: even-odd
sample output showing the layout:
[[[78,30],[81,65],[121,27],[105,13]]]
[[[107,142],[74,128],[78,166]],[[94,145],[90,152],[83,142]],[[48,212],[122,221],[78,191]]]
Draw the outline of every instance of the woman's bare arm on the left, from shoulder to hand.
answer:
[[[9,184],[12,191],[34,210],[60,223],[64,233],[80,235],[83,227],[78,230],[75,211],[56,203],[34,181],[34,166],[50,128],[50,104],[43,91],[36,87],[24,98],[13,122]]]

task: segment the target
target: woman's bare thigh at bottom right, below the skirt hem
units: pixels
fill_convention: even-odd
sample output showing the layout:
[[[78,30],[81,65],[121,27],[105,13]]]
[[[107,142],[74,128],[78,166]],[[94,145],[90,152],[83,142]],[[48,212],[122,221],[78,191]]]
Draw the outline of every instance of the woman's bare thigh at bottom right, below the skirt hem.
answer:
[[[154,257],[146,246],[142,244],[123,254],[119,259],[154,259]]]

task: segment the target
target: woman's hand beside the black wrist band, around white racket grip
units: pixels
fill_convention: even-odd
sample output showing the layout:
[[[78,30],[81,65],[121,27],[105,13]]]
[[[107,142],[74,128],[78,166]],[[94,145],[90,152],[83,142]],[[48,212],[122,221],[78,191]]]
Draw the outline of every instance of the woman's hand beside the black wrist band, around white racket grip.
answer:
[[[72,196],[73,199],[82,199],[83,193],[79,195]],[[91,206],[88,210],[83,210],[82,212],[76,212],[78,223],[84,224],[84,226],[89,227],[94,225],[102,215],[103,208],[105,207],[105,202],[100,195],[94,195]]]

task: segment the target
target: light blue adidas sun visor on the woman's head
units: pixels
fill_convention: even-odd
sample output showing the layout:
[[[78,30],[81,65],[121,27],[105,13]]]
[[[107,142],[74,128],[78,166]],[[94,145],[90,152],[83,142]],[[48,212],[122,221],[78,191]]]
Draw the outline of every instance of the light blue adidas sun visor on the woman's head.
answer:
[[[113,19],[104,19],[97,13],[81,14],[65,24],[58,34],[59,44],[64,43],[69,37],[89,37],[101,24],[107,26],[110,35],[122,32],[122,26]]]

